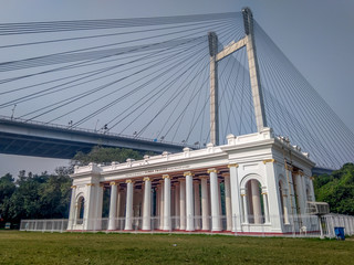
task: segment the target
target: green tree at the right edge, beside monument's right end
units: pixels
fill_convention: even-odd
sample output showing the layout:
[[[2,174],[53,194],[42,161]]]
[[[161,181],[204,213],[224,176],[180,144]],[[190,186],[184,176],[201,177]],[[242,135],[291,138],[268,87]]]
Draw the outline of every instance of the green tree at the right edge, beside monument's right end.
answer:
[[[354,214],[354,165],[345,163],[332,174],[321,174],[314,182],[316,201],[330,204],[331,212]]]

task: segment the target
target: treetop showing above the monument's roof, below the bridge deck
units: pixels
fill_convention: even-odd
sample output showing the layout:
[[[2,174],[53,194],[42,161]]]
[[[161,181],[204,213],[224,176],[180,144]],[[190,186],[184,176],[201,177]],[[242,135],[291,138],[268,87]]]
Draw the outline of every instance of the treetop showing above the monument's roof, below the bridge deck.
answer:
[[[72,159],[75,165],[88,165],[90,162],[107,163],[112,161],[125,162],[127,158],[143,159],[138,151],[123,148],[94,147],[88,153],[77,152]]]

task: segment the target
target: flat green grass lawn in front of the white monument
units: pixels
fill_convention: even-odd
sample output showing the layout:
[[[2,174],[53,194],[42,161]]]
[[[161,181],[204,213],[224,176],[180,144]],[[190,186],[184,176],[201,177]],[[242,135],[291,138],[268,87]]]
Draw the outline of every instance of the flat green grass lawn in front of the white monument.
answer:
[[[0,231],[0,264],[354,264],[354,241]]]

